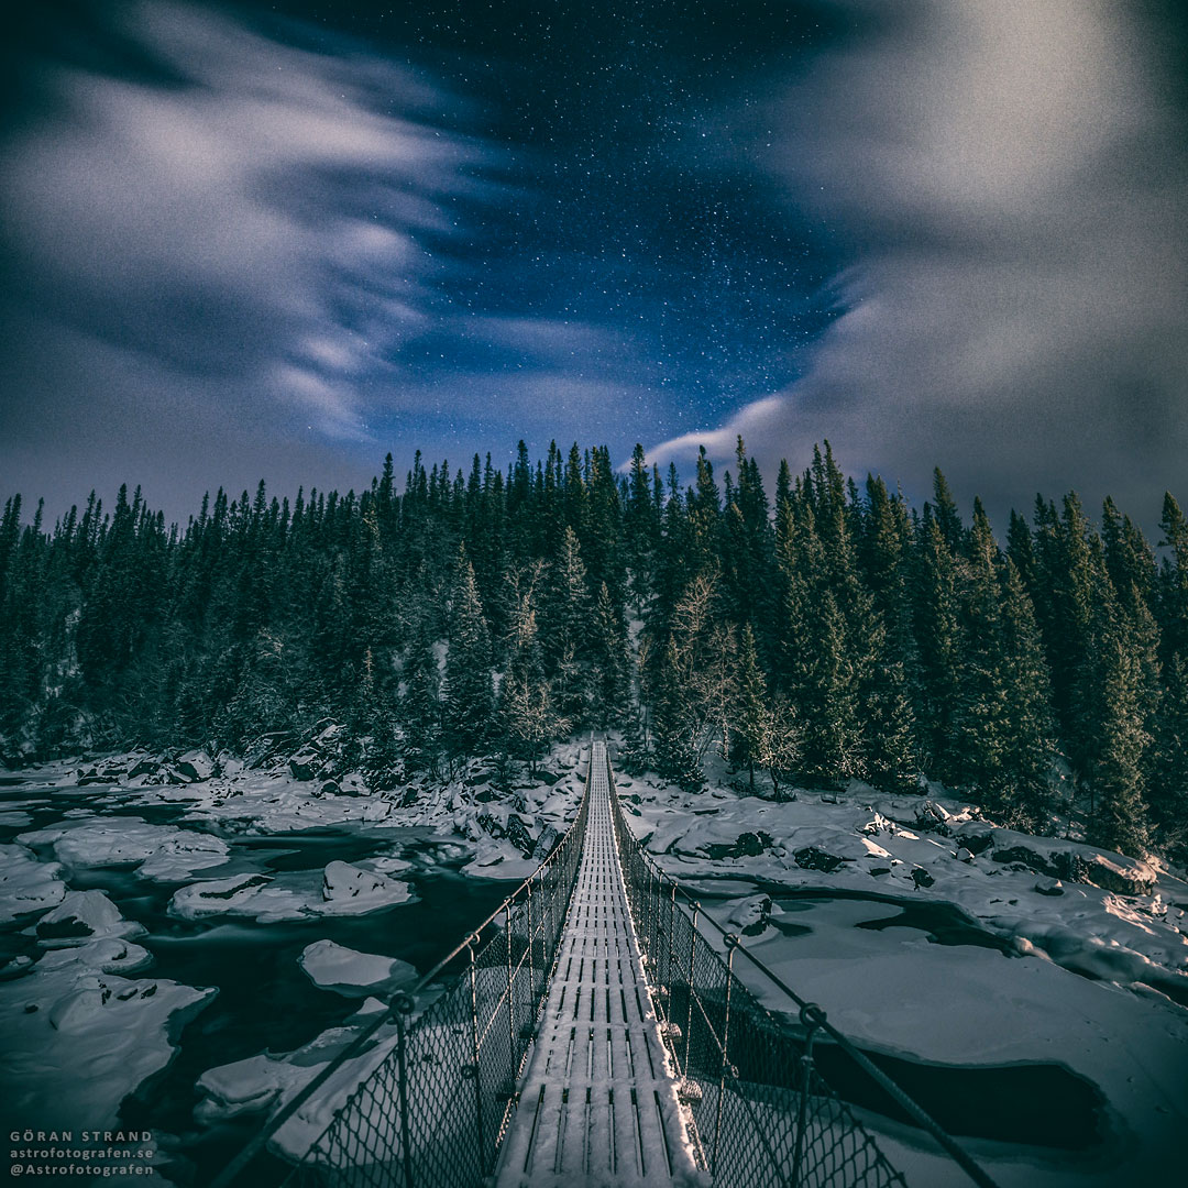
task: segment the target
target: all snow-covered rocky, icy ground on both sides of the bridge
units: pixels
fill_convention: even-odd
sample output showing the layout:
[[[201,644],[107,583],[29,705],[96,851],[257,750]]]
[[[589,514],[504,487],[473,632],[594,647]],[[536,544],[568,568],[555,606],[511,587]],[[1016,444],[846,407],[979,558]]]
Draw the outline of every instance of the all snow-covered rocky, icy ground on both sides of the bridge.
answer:
[[[0,1076],[17,1087],[4,1099],[6,1120],[114,1123],[216,992],[153,979],[138,925],[101,891],[72,885],[88,872],[121,868],[164,885],[184,922],[282,927],[379,914],[411,902],[413,865],[530,873],[573,815],[579,759],[576,744],[558,747],[541,781],[520,778],[508,796],[479,764],[444,785],[368,794],[358,777],[335,776],[317,745],[259,766],[138,753],[21,773],[0,811],[11,839],[0,846],[0,925],[25,946],[0,967]],[[84,805],[53,820],[32,792],[58,789],[78,804],[80,784],[93,785]],[[966,1142],[1004,1188],[1174,1181],[1188,1123],[1188,885],[1175,872],[999,829],[942,795],[855,785],[775,803],[722,783],[689,796],[653,777],[621,777],[619,789],[657,861],[723,927],[745,928],[747,948],[864,1047],[935,1066],[1050,1062],[1100,1091],[1104,1124],[1085,1151]],[[317,830],[356,830],[371,848],[279,873],[245,849]],[[959,935],[933,943],[934,924],[904,914],[922,906],[947,911]],[[967,943],[962,928],[992,943]],[[365,999],[359,1015],[292,1053],[208,1068],[197,1125],[263,1114],[297,1092],[379,1009],[375,996],[411,978],[362,948],[316,942],[295,969]],[[737,967],[767,1005],[786,1007],[747,962]],[[381,1059],[390,1041],[381,1030],[366,1060]],[[915,1132],[873,1123],[917,1188],[960,1182]],[[302,1117],[282,1138],[296,1149],[321,1124]]]

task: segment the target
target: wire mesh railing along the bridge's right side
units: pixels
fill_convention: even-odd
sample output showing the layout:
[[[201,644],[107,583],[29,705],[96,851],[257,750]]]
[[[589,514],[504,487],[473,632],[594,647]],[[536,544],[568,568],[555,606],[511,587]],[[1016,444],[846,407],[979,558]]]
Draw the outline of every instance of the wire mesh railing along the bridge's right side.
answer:
[[[706,916],[627,828],[608,767],[615,843],[661,1034],[681,1078],[678,1097],[715,1188],[904,1188],[814,1059],[833,1043],[981,1188],[993,1181],[868,1057]],[[704,925],[704,927],[703,927]],[[710,942],[716,935],[721,949]],[[800,1009],[801,1030],[760,1005],[734,972],[738,954]]]

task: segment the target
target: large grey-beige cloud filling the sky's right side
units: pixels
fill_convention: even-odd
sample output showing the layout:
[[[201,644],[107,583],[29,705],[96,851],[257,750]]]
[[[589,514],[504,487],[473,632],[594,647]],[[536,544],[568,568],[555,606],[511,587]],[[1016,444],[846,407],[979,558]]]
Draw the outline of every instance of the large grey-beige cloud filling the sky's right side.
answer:
[[[940,465],[999,513],[1076,487],[1156,518],[1188,473],[1188,152],[1154,18],[840,7],[866,31],[789,89],[766,164],[853,245],[842,312],[791,387],[651,454],[828,437],[916,495]]]

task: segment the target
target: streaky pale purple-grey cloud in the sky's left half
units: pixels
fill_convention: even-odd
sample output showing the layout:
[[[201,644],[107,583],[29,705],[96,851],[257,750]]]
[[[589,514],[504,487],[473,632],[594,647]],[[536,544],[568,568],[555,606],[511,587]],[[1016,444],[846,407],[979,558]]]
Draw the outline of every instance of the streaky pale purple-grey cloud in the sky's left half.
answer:
[[[30,339],[36,317],[43,343],[57,326],[63,373],[102,348],[126,419],[197,386],[273,431],[373,440],[361,386],[442,301],[436,246],[498,194],[501,152],[443,125],[455,96],[356,45],[157,0],[106,15],[157,74],[42,64],[51,102],[0,150],[5,323]],[[4,421],[24,430],[34,393],[91,415],[17,355]]]

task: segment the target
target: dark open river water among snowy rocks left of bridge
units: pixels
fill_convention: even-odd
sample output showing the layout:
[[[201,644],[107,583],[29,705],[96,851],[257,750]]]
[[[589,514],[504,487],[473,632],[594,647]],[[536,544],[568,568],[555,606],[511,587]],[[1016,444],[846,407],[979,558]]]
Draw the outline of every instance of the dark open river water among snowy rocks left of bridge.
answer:
[[[260,1053],[282,1054],[309,1043],[328,1028],[341,1025],[361,1004],[317,988],[297,963],[314,941],[331,940],[347,948],[399,958],[421,971],[432,967],[456,943],[494,911],[514,884],[466,878],[443,867],[428,829],[368,832],[320,828],[279,835],[226,834],[201,822],[182,821],[185,804],[137,803],[143,792],[119,792],[101,785],[70,789],[0,789],[0,841],[12,841],[30,829],[45,828],[87,811],[96,816],[134,816],[153,824],[184,826],[217,834],[230,847],[226,865],[209,867],[178,881],[138,878],[128,867],[68,872],[74,890],[97,889],[147,935],[135,937],[153,955],[153,965],[138,974],[189,986],[217,987],[217,997],[175,1038],[179,1050],[170,1066],[141,1085],[121,1106],[121,1123],[150,1127],[158,1136],[177,1136],[182,1165],[171,1175],[179,1181],[208,1182],[247,1142],[261,1121],[249,1116],[229,1124],[195,1124],[194,1106],[201,1094],[196,1082],[210,1068]],[[18,820],[15,813],[25,820]],[[70,814],[68,816],[68,814]],[[29,822],[32,819],[32,823]],[[52,859],[50,847],[38,847]],[[396,874],[410,883],[415,902],[356,917],[259,923],[253,920],[208,918],[182,921],[168,914],[173,892],[195,878],[223,878],[264,871],[291,880],[320,881],[330,861],[359,861],[380,853],[403,853],[412,867]],[[0,931],[0,960],[18,953],[37,958],[36,940],[21,935],[25,922]],[[170,1140],[166,1138],[163,1145]],[[279,1180],[276,1164],[260,1175]]]

